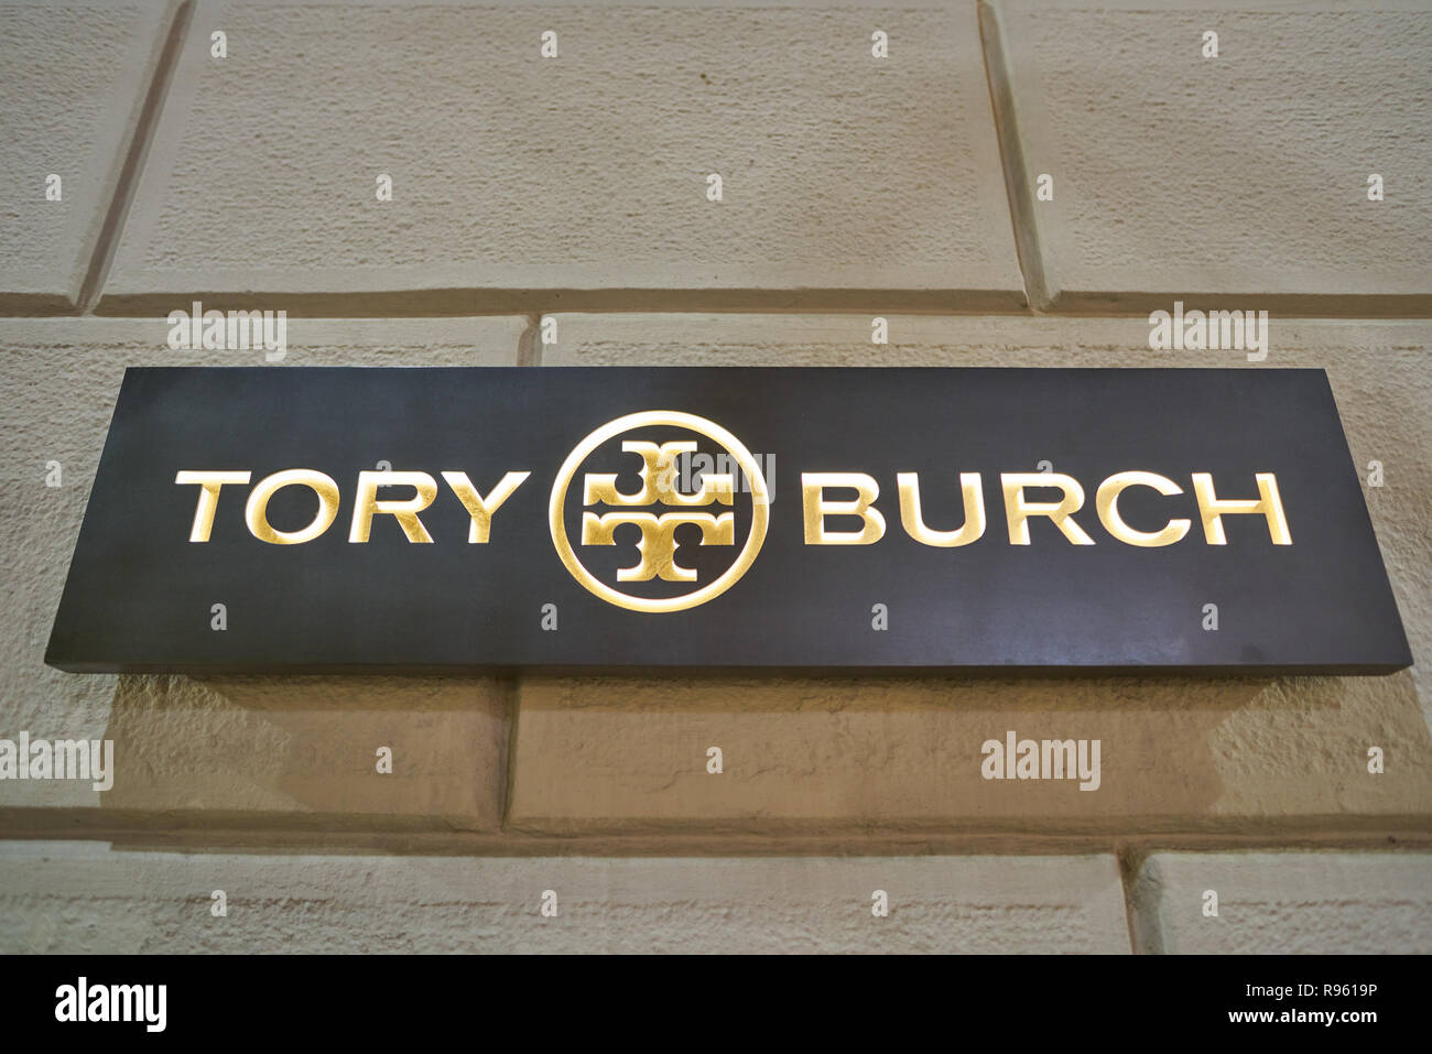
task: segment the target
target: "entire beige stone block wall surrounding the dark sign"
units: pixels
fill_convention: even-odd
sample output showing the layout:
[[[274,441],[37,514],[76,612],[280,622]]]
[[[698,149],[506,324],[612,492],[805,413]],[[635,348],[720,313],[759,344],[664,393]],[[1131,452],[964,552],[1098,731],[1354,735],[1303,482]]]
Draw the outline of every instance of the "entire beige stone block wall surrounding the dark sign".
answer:
[[[116,769],[0,782],[0,952],[1432,951],[1416,666],[42,662],[125,367],[263,361],[172,349],[193,301],[288,311],[274,369],[1323,368],[1422,659],[1428,69],[1393,1],[0,0],[0,738]],[[1151,349],[1174,301],[1269,311],[1266,359]],[[982,780],[1007,729],[1101,788]]]

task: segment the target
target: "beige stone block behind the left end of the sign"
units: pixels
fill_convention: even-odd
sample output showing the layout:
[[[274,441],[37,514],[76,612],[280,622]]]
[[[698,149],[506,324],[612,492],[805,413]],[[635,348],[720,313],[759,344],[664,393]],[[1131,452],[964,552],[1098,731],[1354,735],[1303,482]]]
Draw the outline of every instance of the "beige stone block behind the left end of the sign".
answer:
[[[291,319],[285,365],[511,365],[520,318]],[[116,779],[0,782],[0,826],[494,826],[510,689],[493,679],[139,677],[43,664],[126,365],[261,365],[170,351],[149,319],[0,322],[0,736],[113,739]],[[59,488],[46,487],[59,461]],[[378,746],[394,772],[375,772]]]

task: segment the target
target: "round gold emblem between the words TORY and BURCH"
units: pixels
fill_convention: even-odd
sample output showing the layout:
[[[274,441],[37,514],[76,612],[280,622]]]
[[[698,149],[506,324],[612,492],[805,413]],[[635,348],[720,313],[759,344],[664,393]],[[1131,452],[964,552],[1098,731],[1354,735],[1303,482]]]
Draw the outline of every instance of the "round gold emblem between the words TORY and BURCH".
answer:
[[[609,448],[619,438],[620,458]],[[579,544],[573,546],[567,530],[569,491],[577,471],[594,454],[613,458],[611,464],[597,467],[626,467],[637,487],[623,488],[616,471],[584,473],[581,531]],[[639,473],[632,471],[639,464],[632,455],[640,458]],[[695,474],[693,465],[699,468]],[[729,471],[732,468],[739,471]],[[745,513],[748,495],[749,517]],[[737,546],[737,521],[748,520],[745,541]],[[745,444],[715,421],[674,410],[627,414],[587,435],[557,471],[548,507],[551,541],[571,577],[609,604],[653,614],[684,611],[735,586],[755,563],[769,520],[766,477]],[[613,554],[623,548],[617,531],[634,543],[634,564],[611,566]],[[586,564],[577,556],[579,548],[589,556]],[[632,548],[632,544],[624,546],[627,553]],[[593,560],[591,554],[599,553],[603,559]],[[707,557],[716,553],[735,553],[735,560],[719,574],[707,570],[712,563]],[[709,579],[705,584],[703,577]],[[652,594],[652,590],[664,594]]]

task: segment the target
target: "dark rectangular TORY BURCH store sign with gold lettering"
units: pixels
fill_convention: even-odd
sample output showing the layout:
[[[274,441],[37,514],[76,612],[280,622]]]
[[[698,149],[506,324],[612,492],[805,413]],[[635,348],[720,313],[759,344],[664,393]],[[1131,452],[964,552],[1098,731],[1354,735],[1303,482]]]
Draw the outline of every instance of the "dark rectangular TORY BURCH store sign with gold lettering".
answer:
[[[1315,369],[130,369],[46,662],[1411,663]]]

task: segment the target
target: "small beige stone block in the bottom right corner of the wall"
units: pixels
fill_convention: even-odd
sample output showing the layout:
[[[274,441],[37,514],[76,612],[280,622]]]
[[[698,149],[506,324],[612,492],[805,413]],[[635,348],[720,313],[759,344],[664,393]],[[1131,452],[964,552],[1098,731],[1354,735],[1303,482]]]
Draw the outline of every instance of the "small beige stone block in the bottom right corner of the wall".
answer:
[[[1133,884],[1138,951],[1432,952],[1432,855],[1154,854]],[[1203,914],[1204,891],[1217,918]]]

